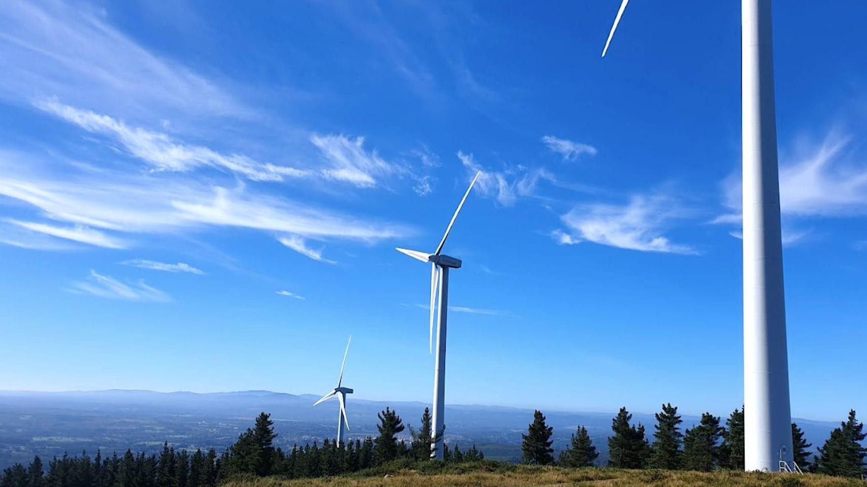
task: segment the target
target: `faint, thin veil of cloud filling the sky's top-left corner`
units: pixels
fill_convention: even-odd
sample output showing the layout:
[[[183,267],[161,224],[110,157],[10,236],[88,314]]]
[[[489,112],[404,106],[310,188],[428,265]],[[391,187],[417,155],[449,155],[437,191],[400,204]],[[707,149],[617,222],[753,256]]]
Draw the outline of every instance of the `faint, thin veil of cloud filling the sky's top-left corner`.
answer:
[[[160,57],[86,3],[0,3],[0,97],[56,94],[127,114],[253,116],[213,80]]]

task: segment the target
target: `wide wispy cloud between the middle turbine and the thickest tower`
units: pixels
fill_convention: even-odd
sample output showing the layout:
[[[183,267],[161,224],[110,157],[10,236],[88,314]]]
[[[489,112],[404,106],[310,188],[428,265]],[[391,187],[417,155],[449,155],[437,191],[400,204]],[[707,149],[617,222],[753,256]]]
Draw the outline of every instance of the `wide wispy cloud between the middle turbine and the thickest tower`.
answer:
[[[664,235],[685,215],[668,195],[633,195],[623,206],[596,203],[572,208],[561,217],[569,233],[555,230],[551,236],[563,245],[587,240],[643,252],[695,254],[693,247],[675,244]]]

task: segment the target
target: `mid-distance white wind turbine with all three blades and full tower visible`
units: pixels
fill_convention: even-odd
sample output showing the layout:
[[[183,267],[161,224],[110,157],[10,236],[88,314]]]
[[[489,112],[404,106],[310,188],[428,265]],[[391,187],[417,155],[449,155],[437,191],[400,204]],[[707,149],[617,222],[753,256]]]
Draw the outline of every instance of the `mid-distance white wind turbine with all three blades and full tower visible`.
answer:
[[[473,184],[479,179],[482,171],[476,173],[470,187],[466,189],[464,197],[460,199],[458,209],[454,210],[452,221],[448,222],[446,233],[443,234],[440,245],[436,247],[433,253],[419,252],[417,250],[408,250],[406,248],[397,247],[397,251],[406,253],[415,260],[431,263],[431,302],[430,302],[430,349],[433,351],[433,310],[436,304],[437,285],[440,285],[440,320],[437,325],[436,334],[436,359],[433,366],[433,420],[431,423],[431,458],[442,459],[442,425],[443,417],[446,413],[446,317],[448,311],[448,270],[460,268],[460,259],[449,257],[442,253],[442,247],[446,245],[448,234],[452,231],[454,221],[458,218],[460,208],[466,202],[466,196],[470,195],[470,189],[473,189]]]

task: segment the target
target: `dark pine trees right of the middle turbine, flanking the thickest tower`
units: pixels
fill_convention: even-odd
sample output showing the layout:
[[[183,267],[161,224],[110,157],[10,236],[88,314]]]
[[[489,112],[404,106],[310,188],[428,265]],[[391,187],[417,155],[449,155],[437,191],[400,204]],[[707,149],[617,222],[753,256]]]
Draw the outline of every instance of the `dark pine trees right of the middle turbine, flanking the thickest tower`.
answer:
[[[651,444],[645,436],[644,426],[632,425],[632,414],[621,407],[611,420],[608,438],[608,465],[628,469],[665,469],[712,471],[716,469],[744,469],[744,410],[735,409],[720,425],[720,417],[711,413],[701,415],[698,425],[681,432],[681,415],[677,407],[662,405],[655,413],[656,426]],[[792,423],[792,445],[795,463],[809,471],[818,471],[839,477],[867,475],[864,457],[864,424],[859,423],[855,411],[831,432],[825,445],[813,454],[812,444],[804,439],[804,432]],[[588,467],[596,465],[596,446],[584,426],[572,434],[570,445],[557,459],[551,447],[551,426],[545,424],[544,415],[536,411],[533,422],[523,435],[522,460],[528,464]],[[812,457],[812,460],[811,460]]]

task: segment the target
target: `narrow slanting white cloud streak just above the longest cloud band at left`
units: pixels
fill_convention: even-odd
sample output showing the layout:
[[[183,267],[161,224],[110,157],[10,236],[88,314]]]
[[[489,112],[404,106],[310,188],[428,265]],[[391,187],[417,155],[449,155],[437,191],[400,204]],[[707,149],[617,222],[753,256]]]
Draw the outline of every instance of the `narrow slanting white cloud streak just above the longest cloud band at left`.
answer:
[[[258,163],[243,155],[225,155],[201,145],[183,144],[164,133],[129,127],[108,115],[80,110],[56,99],[37,99],[34,106],[86,131],[113,137],[132,156],[150,164],[154,170],[186,172],[210,166],[231,171],[252,181],[283,181],[287,177],[313,175],[310,170]]]

